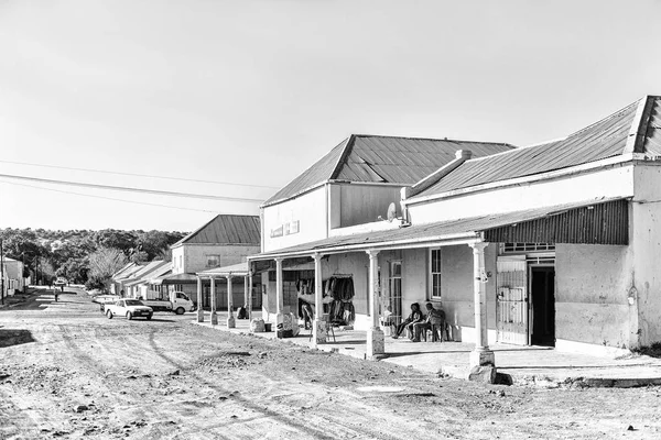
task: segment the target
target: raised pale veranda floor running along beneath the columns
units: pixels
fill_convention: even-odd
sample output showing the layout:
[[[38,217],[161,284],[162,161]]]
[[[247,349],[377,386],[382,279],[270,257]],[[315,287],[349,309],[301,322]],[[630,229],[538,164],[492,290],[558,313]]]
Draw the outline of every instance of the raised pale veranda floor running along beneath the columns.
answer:
[[[254,314],[259,317],[259,314]],[[237,327],[228,329],[226,312],[218,314],[214,328],[231,332],[249,332],[248,320],[236,320]],[[197,323],[197,322],[195,322]],[[201,326],[212,327],[208,314]],[[275,339],[274,331],[253,333],[260,338]],[[319,350],[336,351],[354,358],[366,358],[366,331],[335,330],[335,342],[319,344]],[[301,330],[294,338],[283,341],[312,345],[310,330]],[[407,338],[386,337],[386,353],[381,361],[410,366],[431,373],[444,373],[465,378],[468,375],[468,355],[473,343],[465,342],[411,342]],[[579,382],[587,386],[641,386],[661,385],[661,360],[650,356],[608,358],[579,353],[565,353],[544,346],[491,345],[499,373],[511,376],[514,383],[537,383],[557,386],[561,383]]]

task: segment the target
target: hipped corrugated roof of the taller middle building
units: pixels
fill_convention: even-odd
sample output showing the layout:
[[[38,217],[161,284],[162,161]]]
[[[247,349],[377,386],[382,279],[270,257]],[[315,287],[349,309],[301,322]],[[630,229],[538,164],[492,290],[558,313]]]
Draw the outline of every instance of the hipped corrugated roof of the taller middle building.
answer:
[[[327,180],[408,186],[451,162],[457,150],[474,157],[512,150],[505,143],[351,134],[263,206],[292,198]]]

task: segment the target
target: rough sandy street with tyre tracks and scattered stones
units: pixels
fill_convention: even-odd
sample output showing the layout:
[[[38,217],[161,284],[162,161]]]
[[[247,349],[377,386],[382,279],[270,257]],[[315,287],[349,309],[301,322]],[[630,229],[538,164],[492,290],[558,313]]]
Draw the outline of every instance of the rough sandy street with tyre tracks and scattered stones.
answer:
[[[659,387],[481,385],[192,319],[82,290],[0,309],[0,438],[661,438]]]

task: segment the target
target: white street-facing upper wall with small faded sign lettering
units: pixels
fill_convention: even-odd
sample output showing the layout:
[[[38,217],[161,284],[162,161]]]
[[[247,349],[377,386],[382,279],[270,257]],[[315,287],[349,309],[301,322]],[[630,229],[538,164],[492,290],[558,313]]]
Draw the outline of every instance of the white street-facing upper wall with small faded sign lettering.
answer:
[[[262,209],[263,252],[328,237],[326,187],[322,186],[292,200]],[[299,221],[299,232],[271,238],[271,232],[292,221]]]

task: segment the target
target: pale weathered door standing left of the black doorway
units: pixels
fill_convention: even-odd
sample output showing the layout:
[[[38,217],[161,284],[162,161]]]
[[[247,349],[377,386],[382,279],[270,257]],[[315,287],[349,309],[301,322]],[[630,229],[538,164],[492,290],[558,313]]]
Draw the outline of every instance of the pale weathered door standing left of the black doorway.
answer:
[[[530,340],[525,255],[498,257],[497,270],[497,340],[528,345]]]

